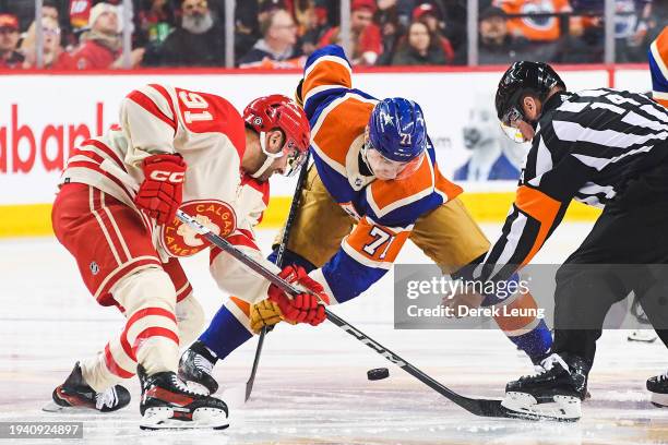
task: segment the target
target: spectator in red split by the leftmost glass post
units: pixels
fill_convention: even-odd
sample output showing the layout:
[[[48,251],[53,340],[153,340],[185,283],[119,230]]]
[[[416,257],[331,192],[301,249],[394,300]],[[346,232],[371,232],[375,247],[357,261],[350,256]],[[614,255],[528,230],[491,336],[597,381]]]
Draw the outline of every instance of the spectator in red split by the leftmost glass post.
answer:
[[[21,43],[21,51],[25,56],[23,68],[26,69],[36,68],[37,63],[37,38],[35,28],[35,22],[33,22]],[[72,56],[64,51],[60,44],[61,32],[58,21],[50,16],[44,16],[41,19],[41,35],[44,36],[44,68],[53,70],[74,69]]]

